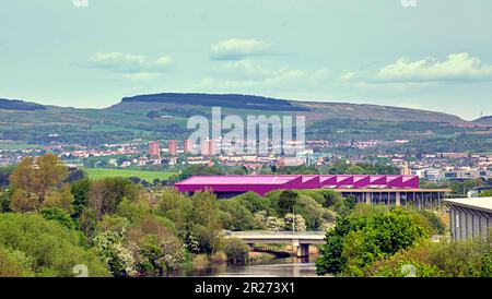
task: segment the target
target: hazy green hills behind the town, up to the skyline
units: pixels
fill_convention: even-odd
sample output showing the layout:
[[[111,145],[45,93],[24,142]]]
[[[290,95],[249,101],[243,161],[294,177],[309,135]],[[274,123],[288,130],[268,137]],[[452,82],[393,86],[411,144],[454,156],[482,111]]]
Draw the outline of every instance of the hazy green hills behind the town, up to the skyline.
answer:
[[[259,96],[156,94],[126,97],[105,109],[43,106],[28,110],[9,101],[0,106],[0,141],[19,144],[77,143],[96,146],[134,139],[184,140],[189,117],[222,115],[303,115],[306,139],[331,142],[410,140],[405,151],[483,151],[492,146],[485,120],[399,107],[348,103],[294,101]],[[402,151],[402,148],[396,148]]]

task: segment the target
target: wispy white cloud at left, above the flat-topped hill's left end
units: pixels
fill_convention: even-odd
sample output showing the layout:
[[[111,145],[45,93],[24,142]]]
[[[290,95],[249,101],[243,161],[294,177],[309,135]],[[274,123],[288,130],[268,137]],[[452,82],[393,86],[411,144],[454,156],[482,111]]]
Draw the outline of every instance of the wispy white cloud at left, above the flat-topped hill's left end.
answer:
[[[125,79],[144,81],[168,72],[173,65],[173,59],[168,56],[152,60],[143,55],[97,52],[84,65],[116,72]]]

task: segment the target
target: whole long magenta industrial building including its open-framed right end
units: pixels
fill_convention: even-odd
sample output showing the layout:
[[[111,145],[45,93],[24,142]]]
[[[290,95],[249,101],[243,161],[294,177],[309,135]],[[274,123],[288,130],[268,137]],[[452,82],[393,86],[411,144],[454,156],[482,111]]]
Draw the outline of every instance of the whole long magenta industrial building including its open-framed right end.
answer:
[[[175,184],[180,192],[210,190],[219,198],[246,192],[263,195],[274,190],[329,189],[358,203],[412,204],[423,208],[442,206],[448,189],[421,189],[417,176],[285,175],[285,176],[195,176]]]

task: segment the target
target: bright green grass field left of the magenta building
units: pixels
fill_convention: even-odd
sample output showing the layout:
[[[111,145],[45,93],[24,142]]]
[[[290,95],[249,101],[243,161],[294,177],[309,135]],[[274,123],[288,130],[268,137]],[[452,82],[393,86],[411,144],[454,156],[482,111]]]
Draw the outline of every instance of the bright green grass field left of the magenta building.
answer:
[[[137,177],[148,182],[152,182],[155,179],[165,180],[171,176],[175,175],[174,172],[164,172],[164,171],[103,169],[103,168],[84,168],[84,171],[87,172],[89,178],[92,180],[114,178],[114,177],[121,177],[121,178]]]

